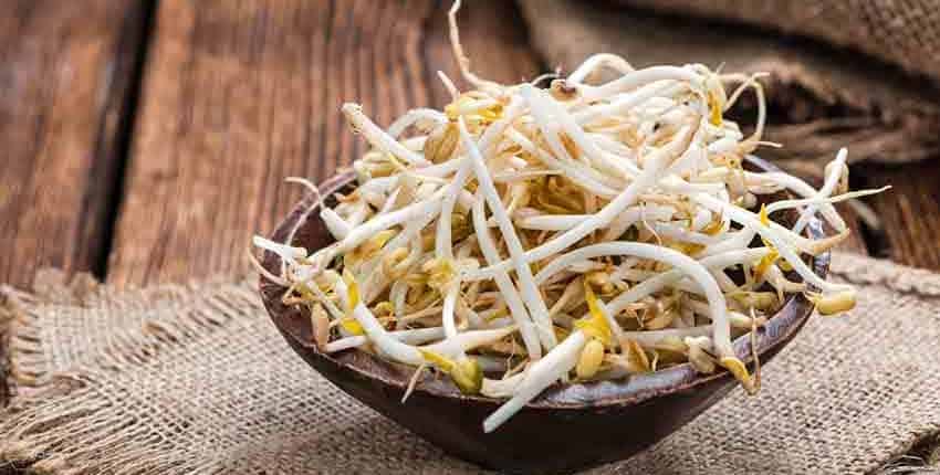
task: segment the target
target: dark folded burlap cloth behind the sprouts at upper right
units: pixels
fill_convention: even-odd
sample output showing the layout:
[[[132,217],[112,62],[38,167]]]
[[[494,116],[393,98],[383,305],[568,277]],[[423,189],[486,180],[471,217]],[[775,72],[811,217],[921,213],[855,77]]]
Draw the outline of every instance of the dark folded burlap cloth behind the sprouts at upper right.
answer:
[[[792,171],[817,173],[840,147],[848,147],[850,161],[888,163],[940,150],[938,1],[519,3],[530,42],[552,68],[572,71],[591,54],[610,52],[637,67],[703,63],[770,73],[765,138],[784,147],[761,152],[786,160],[781,165]],[[750,94],[735,114],[753,122]]]

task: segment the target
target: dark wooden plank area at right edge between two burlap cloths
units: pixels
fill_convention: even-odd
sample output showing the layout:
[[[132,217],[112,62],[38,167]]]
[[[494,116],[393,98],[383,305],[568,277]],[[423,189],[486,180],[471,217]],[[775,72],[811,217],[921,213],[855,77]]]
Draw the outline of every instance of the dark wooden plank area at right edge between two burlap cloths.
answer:
[[[940,270],[940,163],[927,160],[904,167],[867,166],[866,187],[894,188],[868,199],[881,221],[892,261]]]

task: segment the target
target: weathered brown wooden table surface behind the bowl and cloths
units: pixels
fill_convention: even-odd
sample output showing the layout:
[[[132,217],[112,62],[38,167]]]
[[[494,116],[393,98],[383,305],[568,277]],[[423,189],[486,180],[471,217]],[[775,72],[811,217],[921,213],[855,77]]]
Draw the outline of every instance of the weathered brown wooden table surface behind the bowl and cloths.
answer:
[[[449,2],[448,2],[449,3]],[[461,31],[474,70],[549,70],[511,2],[474,0]],[[0,282],[36,268],[118,286],[247,267],[302,190],[363,151],[337,109],[380,124],[442,106],[458,77],[432,0],[11,0],[0,18]],[[884,232],[846,244],[940,268],[940,161],[861,166]]]

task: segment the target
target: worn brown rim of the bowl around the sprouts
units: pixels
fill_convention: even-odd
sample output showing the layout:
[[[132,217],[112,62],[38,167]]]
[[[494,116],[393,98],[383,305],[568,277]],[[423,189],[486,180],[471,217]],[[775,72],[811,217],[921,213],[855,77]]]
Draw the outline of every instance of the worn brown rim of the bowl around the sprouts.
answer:
[[[774,165],[756,157],[748,157],[746,162],[761,171],[780,170]],[[353,183],[355,178],[356,176],[353,171],[334,175],[320,186],[321,193],[323,197],[330,197]],[[311,220],[307,217],[313,215],[311,211],[315,211],[318,208],[318,201],[316,197],[307,193],[278,225],[271,239],[282,242],[295,226],[302,229],[305,225],[314,223],[316,218]],[[818,239],[824,235],[823,224],[818,218],[814,217],[810,221],[807,231],[812,238]],[[811,268],[817,275],[825,278],[829,258],[831,253],[828,251],[813,256],[810,264]],[[274,274],[278,273],[281,266],[280,257],[269,251],[263,253],[261,263],[265,270]],[[383,384],[395,387],[398,390],[405,389],[408,380],[407,378],[401,379],[403,369],[410,373],[414,371],[414,368],[390,362],[357,349],[343,350],[336,353],[324,353],[312,341],[300,338],[294,332],[285,329],[279,323],[283,318],[282,314],[286,308],[280,303],[279,298],[284,289],[285,287],[270,281],[263,274],[260,275],[259,291],[264,306],[274,325],[281,330],[284,338],[292,340],[290,342],[295,349],[299,350],[297,346],[300,346],[311,356],[320,358],[324,362],[333,365],[343,371],[348,371],[348,376],[351,377],[368,378],[380,381]],[[803,294],[788,296],[781,309],[770,317],[766,324],[758,328],[758,356],[761,357],[771,350],[779,349],[779,347],[782,347],[792,339],[800,331],[803,324],[808,320],[813,314],[813,309],[814,305]],[[750,332],[735,338],[732,345],[738,357],[745,365],[753,366],[753,361],[751,361]],[[575,383],[556,382],[546,388],[533,401],[530,401],[525,408],[529,410],[558,410],[636,404],[655,397],[685,392],[719,379],[730,380],[731,374],[725,370],[719,370],[711,374],[701,374],[690,363],[686,362],[649,373],[631,374],[617,380]],[[483,404],[489,403],[493,407],[498,407],[506,400],[505,398],[463,394],[447,378],[426,379],[419,382],[414,391],[431,397],[458,399]]]

